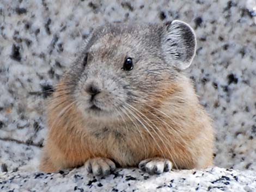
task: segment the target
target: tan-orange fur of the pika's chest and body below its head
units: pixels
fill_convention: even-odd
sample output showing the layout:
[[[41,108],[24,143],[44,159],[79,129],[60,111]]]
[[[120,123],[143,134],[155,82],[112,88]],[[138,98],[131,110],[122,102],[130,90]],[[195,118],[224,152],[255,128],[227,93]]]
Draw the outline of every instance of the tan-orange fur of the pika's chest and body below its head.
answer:
[[[169,92],[174,89],[179,92],[177,87],[170,88]],[[55,97],[59,94],[63,92],[57,92]],[[192,98],[191,102],[196,99]],[[44,149],[44,156],[48,158],[45,162],[51,162],[52,166],[48,168],[47,163],[42,163],[41,169],[57,171],[80,166],[94,157],[112,159],[123,167],[137,166],[141,160],[152,157],[168,158],[174,162],[174,168],[211,165],[212,155],[209,153],[212,153],[213,135],[208,116],[194,109],[200,108],[197,100],[192,104],[181,104],[184,100],[173,95],[167,101],[158,98],[156,106],[157,102],[163,103],[161,108],[148,106],[144,112],[131,115],[131,122],[99,127],[87,127],[75,106],[66,105],[64,100],[59,103],[66,106],[68,113],[62,115],[62,104],[54,102],[48,110],[49,133]],[[175,106],[175,103],[179,104]],[[141,118],[141,123],[136,122],[136,118]],[[201,156],[206,157],[204,165],[198,163]]]

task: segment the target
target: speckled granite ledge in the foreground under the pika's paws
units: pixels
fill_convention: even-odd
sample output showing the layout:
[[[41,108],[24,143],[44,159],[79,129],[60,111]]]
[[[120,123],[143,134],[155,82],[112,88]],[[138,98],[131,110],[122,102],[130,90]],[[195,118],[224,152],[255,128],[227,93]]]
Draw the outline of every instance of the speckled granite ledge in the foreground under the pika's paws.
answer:
[[[0,174],[1,176],[1,174]],[[59,174],[2,174],[1,191],[255,191],[251,171],[209,168],[150,176],[137,169],[117,170],[107,177],[88,176],[82,169]]]

